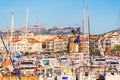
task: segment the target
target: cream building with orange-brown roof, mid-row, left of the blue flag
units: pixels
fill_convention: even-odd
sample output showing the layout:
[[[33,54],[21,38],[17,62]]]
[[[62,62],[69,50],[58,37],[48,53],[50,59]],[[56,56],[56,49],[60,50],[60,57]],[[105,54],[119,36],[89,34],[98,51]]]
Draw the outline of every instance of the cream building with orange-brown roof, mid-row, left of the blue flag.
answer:
[[[68,38],[67,36],[58,35],[54,38],[47,39],[44,41],[46,45],[46,51],[67,51],[68,50]]]

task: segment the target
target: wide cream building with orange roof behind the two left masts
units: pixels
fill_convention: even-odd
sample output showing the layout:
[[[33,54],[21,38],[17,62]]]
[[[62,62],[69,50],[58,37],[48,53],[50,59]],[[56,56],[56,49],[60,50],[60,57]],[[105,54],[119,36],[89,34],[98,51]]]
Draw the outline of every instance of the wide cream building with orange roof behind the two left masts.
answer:
[[[10,43],[11,52],[38,52],[42,50],[42,43],[34,38],[14,38]]]

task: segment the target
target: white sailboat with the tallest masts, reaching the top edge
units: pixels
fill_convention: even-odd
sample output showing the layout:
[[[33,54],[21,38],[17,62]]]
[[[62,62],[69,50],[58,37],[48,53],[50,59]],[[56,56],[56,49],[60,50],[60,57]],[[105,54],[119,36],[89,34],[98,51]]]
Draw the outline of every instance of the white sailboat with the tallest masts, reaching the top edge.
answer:
[[[88,43],[88,51],[85,53],[84,51],[84,42],[83,42],[83,63],[82,66],[80,66],[80,80],[96,80],[97,79],[97,75],[95,74],[94,70],[93,70],[93,66],[92,66],[92,55],[91,55],[91,47],[90,47],[90,22],[89,22],[89,14],[88,14],[88,7],[85,3],[85,0],[83,0],[83,4],[84,4],[84,20],[83,20],[83,41],[86,40],[86,42]],[[86,30],[84,30],[84,27],[86,28]],[[84,59],[85,55],[87,54],[87,60]],[[88,61],[89,60],[89,61]]]

